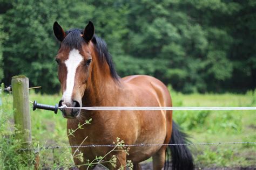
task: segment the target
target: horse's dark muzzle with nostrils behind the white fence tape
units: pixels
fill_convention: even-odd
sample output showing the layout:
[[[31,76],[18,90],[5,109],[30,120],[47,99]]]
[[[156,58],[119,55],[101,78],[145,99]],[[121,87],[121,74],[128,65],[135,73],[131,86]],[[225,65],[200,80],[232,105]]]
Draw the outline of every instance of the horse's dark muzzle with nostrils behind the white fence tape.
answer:
[[[80,104],[77,101],[71,101],[71,102],[65,102],[63,100],[59,101],[59,107],[62,106],[66,106],[66,107],[72,107],[72,108],[79,108]],[[71,108],[60,108],[60,111],[62,111],[62,116],[64,118],[71,118],[74,119],[79,115],[80,109],[71,109]]]

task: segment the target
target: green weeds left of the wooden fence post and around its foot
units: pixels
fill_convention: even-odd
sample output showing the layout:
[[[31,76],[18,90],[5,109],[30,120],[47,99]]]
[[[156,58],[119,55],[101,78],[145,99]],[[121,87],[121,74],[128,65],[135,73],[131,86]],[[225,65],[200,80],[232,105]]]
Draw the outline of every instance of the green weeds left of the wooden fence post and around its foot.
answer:
[[[13,133],[15,127],[11,123],[13,112],[9,98],[9,94],[0,89],[0,169],[23,169],[33,165],[35,155],[20,150],[22,143]]]

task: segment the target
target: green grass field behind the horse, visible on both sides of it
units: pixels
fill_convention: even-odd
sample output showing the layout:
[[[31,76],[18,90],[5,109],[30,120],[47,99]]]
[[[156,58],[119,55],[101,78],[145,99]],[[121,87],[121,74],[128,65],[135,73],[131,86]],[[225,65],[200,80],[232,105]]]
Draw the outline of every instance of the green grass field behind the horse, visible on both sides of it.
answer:
[[[173,106],[176,107],[255,107],[256,94],[248,92],[240,94],[191,94],[184,95],[171,92]],[[56,104],[60,95],[39,95],[30,91],[30,101]],[[0,169],[17,161],[15,147],[17,141],[7,142],[3,137],[11,136],[12,127],[12,96],[2,95],[0,107]],[[32,106],[32,104],[31,104]],[[193,143],[217,143],[230,141],[256,141],[256,112],[255,111],[174,111],[173,119],[191,136]],[[55,115],[52,111],[31,109],[32,139],[35,147],[68,146],[66,137],[66,119],[60,112]],[[8,147],[8,148],[7,148]],[[197,167],[248,167],[256,166],[255,144],[231,145],[196,145],[191,146]],[[6,156],[6,154],[8,156]],[[17,156],[17,158],[16,158]],[[10,157],[16,160],[10,159]],[[72,157],[70,148],[40,152],[41,167],[58,168],[70,166]],[[9,158],[9,159],[7,159]],[[54,162],[53,162],[54,159]],[[8,163],[8,161],[9,163]],[[7,163],[6,163],[7,161]],[[16,165],[17,166],[17,165]]]

